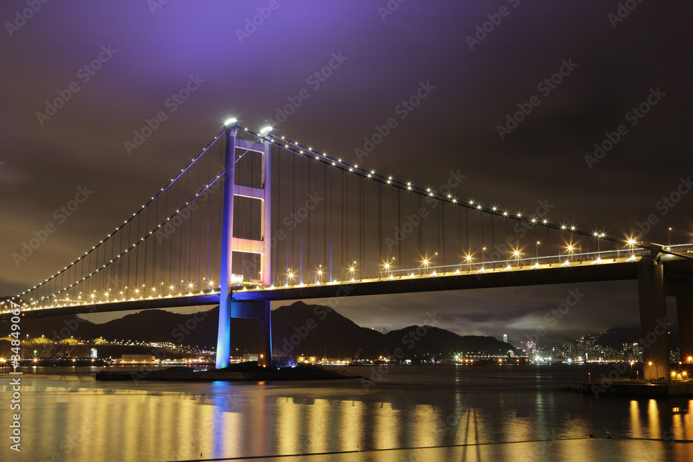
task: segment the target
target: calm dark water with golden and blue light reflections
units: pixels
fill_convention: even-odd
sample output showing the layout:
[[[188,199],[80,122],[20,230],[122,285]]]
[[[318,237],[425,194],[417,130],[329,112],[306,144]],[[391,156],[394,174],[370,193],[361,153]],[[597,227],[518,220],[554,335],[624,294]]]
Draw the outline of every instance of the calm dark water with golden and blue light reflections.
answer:
[[[9,449],[6,423],[17,411],[9,410],[10,376],[2,373],[3,461],[181,461],[421,447],[448,448],[309,459],[581,460],[608,452],[607,459],[693,460],[693,400],[556,391],[611,366],[394,366],[379,375],[349,368],[374,374],[378,380],[367,389],[360,380],[96,382],[89,368],[55,369],[26,369],[21,378],[21,454]],[[613,439],[588,438],[607,432]],[[531,441],[542,442],[495,444]],[[475,446],[459,452],[455,445]]]

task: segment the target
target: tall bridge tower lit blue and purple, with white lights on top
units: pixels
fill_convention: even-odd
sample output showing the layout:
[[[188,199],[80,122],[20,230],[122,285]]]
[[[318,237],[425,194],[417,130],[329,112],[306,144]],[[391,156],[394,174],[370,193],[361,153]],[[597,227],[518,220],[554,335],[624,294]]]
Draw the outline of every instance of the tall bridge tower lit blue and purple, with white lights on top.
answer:
[[[260,139],[248,141],[238,139],[238,125],[232,119],[225,124],[225,181],[224,206],[222,213],[222,255],[220,271],[219,294],[219,331],[217,335],[216,367],[229,366],[231,357],[231,318],[255,318],[260,321],[260,348],[258,350],[258,365],[272,365],[272,325],[269,301],[234,301],[232,289],[232,261],[234,252],[256,254],[260,257],[261,283],[270,285],[270,236],[271,222],[271,175],[270,148],[271,143]],[[259,152],[262,154],[261,187],[242,186],[236,184],[236,149]],[[259,199],[261,206],[261,238],[252,240],[234,236],[234,199],[236,196]]]

